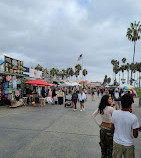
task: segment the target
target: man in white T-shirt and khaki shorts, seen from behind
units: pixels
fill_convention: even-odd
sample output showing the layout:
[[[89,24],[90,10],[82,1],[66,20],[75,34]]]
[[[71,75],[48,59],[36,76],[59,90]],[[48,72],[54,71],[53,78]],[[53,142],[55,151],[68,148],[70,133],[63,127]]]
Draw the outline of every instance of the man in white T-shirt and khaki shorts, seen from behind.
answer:
[[[134,138],[138,137],[139,122],[136,115],[130,113],[132,97],[125,94],[121,98],[121,110],[112,114],[113,158],[135,158]]]

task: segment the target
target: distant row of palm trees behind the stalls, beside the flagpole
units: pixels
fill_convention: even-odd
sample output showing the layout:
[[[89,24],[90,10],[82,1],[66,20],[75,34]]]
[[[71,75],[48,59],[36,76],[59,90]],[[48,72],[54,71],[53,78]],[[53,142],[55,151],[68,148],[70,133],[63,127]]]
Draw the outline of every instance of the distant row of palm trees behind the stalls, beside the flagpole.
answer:
[[[75,69],[68,67],[67,69],[61,69],[59,70],[58,68],[51,68],[50,71],[47,70],[47,68],[43,68],[40,64],[38,64],[35,67],[36,70],[42,71],[43,74],[49,74],[52,77],[61,77],[63,80],[64,78],[72,78],[75,76],[78,79],[78,76],[80,75],[80,71],[82,70],[82,66],[80,64],[77,64],[75,66]],[[82,70],[82,74],[84,77],[88,74],[88,71],[86,69]]]

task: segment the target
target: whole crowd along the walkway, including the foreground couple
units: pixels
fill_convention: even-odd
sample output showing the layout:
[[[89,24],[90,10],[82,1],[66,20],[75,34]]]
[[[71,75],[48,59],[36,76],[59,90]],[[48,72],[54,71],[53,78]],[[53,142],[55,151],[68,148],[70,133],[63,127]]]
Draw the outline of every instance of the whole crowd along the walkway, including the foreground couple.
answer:
[[[92,101],[101,96],[98,108],[93,113],[95,123],[100,127],[100,147],[102,158],[135,158],[134,138],[141,131],[138,118],[132,113],[133,95],[128,90],[112,88],[49,88],[41,90],[43,98],[51,97],[52,104],[59,98],[70,98],[71,107],[76,111],[85,111],[87,95],[91,94]],[[80,103],[80,108],[77,103]],[[60,103],[58,99],[58,104]],[[97,115],[102,122],[98,122]]]

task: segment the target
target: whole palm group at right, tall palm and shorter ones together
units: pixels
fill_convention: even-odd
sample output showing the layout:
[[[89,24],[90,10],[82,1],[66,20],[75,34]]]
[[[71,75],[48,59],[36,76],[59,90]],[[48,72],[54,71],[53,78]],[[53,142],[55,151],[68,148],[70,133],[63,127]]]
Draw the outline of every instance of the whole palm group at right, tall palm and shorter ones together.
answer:
[[[140,73],[141,73],[141,62],[139,63],[135,63],[135,47],[136,47],[136,43],[138,40],[140,40],[140,34],[141,34],[141,25],[140,25],[140,21],[139,22],[134,22],[134,23],[130,23],[130,27],[127,29],[127,33],[126,33],[126,37],[128,38],[129,41],[134,43],[134,53],[133,53],[133,62],[130,63],[126,63],[126,58],[122,59],[122,64],[119,65],[119,61],[118,60],[111,60],[111,64],[113,65],[113,72],[115,74],[115,78],[114,78],[114,84],[117,84],[117,79],[116,79],[116,75],[119,74],[119,84],[120,84],[120,72],[122,72],[122,78],[121,81],[122,83],[125,83],[126,79],[124,79],[124,71],[127,71],[127,83],[131,84],[134,82],[137,83],[140,87]],[[135,74],[138,72],[138,77],[137,79],[135,79]],[[129,73],[131,74],[131,76],[129,77]],[[134,77],[133,77],[134,74]]]

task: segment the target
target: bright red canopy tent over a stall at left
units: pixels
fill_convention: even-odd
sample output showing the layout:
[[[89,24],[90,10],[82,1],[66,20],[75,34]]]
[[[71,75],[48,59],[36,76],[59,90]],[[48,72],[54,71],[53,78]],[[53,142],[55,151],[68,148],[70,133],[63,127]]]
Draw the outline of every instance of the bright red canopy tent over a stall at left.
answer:
[[[24,83],[25,84],[31,84],[31,85],[34,85],[34,86],[40,86],[40,85],[42,85],[42,86],[54,86],[53,84],[42,81],[40,79],[31,80],[31,81],[27,81],[27,82],[24,82]]]

